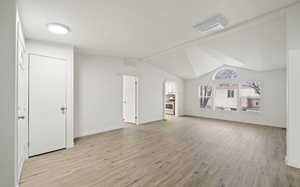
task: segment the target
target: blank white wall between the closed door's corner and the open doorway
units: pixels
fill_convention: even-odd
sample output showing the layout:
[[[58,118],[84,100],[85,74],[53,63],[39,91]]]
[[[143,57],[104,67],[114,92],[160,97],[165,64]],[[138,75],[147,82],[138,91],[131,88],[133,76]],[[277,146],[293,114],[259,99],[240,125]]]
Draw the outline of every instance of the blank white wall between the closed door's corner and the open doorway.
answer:
[[[118,58],[75,56],[75,137],[122,127],[122,70]]]

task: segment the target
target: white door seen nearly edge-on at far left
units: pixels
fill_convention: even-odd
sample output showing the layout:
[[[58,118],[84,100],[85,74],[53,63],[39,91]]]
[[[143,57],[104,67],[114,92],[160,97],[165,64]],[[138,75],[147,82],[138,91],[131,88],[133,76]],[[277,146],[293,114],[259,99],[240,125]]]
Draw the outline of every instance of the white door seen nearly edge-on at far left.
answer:
[[[18,177],[28,156],[28,66],[24,45],[18,40]]]

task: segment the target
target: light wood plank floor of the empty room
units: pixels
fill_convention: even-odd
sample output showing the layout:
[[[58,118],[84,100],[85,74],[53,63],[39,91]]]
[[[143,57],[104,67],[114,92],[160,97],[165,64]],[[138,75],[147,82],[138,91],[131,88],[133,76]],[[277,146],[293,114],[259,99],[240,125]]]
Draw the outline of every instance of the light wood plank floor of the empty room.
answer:
[[[299,187],[285,130],[181,117],[84,137],[25,162],[21,187]]]

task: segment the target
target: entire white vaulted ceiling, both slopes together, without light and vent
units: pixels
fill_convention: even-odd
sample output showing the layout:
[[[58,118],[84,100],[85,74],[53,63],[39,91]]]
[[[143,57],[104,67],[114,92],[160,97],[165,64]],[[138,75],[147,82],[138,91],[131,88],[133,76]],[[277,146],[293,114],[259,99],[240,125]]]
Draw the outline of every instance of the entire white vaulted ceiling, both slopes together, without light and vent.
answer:
[[[202,37],[192,26],[218,13],[228,18],[231,27],[296,1],[19,0],[19,7],[28,38],[71,44],[82,53],[147,57],[150,63],[166,71],[193,78],[220,64],[258,70],[282,66],[277,61],[283,58],[280,50],[285,41],[273,37],[284,32],[280,29],[284,20],[271,19],[271,25],[261,29],[249,24],[246,32],[235,29],[226,33],[226,37],[156,54]],[[71,32],[65,36],[53,35],[46,28],[50,22],[66,24]],[[268,34],[273,31],[275,34]],[[273,45],[279,48],[275,51],[269,48]]]

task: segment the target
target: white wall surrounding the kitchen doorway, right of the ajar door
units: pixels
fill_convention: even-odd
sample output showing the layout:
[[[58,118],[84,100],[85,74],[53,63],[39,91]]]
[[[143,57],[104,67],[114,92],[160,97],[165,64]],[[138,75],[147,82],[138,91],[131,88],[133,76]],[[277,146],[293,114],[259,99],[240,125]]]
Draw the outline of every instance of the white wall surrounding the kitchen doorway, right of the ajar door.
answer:
[[[184,82],[182,79],[164,72],[153,65],[138,63],[139,77],[139,123],[157,121],[164,118],[164,83],[172,81],[177,89],[177,115],[183,115]]]

